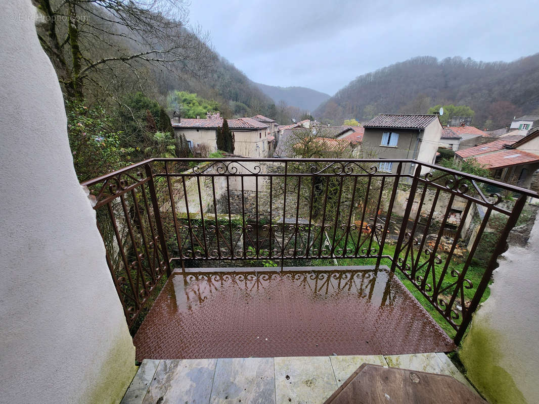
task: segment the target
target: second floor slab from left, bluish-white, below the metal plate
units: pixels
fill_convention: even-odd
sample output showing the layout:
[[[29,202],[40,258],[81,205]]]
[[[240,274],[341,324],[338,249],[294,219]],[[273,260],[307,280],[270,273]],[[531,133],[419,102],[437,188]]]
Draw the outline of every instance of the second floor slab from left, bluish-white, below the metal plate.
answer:
[[[217,359],[161,360],[143,404],[207,404]]]

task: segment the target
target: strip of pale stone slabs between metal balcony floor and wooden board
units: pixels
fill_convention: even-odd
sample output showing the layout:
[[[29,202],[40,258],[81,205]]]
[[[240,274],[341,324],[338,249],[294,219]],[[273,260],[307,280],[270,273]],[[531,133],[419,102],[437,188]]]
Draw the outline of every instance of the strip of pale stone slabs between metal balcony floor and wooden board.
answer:
[[[143,361],[121,404],[323,403],[363,363],[450,375],[475,392],[444,353],[163,359]]]

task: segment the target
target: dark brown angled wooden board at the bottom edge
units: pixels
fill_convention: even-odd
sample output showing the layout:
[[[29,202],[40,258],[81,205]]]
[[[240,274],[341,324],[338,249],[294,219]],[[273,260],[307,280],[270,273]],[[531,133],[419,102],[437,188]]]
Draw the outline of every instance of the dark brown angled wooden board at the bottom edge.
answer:
[[[363,364],[324,404],[486,404],[444,374]]]

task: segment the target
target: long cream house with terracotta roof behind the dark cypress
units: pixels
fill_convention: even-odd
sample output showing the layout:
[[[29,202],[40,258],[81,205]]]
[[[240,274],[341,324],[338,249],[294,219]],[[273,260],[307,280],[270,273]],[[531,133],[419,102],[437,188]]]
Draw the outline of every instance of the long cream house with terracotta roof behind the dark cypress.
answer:
[[[234,136],[234,154],[243,157],[267,157],[268,126],[252,118],[227,119]],[[223,126],[223,119],[191,119],[174,115],[174,133],[185,136],[191,149],[205,144],[211,151],[217,151],[217,128]]]

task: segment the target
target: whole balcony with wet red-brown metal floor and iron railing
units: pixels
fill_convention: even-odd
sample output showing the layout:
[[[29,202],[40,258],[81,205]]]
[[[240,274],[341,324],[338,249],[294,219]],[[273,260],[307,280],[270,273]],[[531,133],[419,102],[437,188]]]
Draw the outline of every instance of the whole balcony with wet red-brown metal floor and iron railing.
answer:
[[[536,194],[381,162],[155,158],[82,184],[137,359],[455,350]]]

